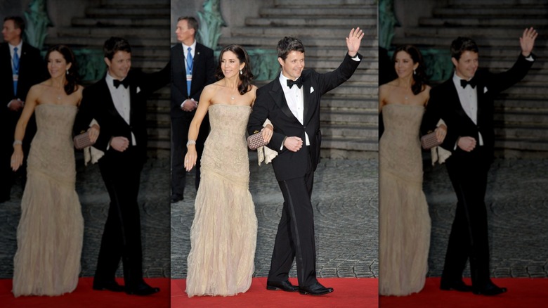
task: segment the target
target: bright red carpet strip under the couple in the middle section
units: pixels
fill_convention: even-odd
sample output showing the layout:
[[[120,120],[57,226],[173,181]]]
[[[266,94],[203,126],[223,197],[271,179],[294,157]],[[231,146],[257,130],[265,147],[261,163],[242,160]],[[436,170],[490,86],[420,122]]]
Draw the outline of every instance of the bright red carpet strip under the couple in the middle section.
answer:
[[[296,278],[289,279],[296,284]],[[298,292],[266,290],[266,278],[254,278],[246,293],[236,296],[195,296],[188,298],[184,279],[171,281],[171,308],[183,307],[329,307],[329,308],[377,308],[379,305],[378,286],[375,278],[321,278],[322,285],[334,288],[328,295],[301,295]]]

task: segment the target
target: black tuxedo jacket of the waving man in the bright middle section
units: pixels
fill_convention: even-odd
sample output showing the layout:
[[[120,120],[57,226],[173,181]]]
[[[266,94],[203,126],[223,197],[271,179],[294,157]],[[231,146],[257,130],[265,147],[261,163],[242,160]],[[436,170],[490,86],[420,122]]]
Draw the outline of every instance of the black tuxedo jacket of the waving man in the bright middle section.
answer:
[[[360,54],[358,57],[362,58]],[[310,150],[313,169],[320,161],[320,145],[322,134],[320,131],[320,98],[322,94],[330,91],[350,78],[360,61],[355,61],[346,54],[343,62],[337,70],[320,74],[314,70],[304,70],[301,74],[304,96],[304,124],[293,115],[285,94],[280,84],[280,79],[257,90],[253,112],[249,117],[247,130],[249,134],[260,131],[263,122],[268,118],[274,126],[274,134],[270,139],[269,148],[278,151],[278,156],[272,161],[274,173],[278,181],[302,177],[306,174],[307,161],[306,150],[296,152],[282,147],[286,136],[297,136],[305,142],[305,132],[310,140]]]

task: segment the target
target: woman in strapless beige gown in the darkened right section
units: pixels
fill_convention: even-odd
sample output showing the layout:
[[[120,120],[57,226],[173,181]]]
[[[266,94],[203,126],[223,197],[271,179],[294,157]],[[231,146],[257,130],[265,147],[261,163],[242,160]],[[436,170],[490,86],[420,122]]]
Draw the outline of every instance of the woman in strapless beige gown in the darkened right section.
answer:
[[[393,63],[398,78],[379,87],[385,129],[379,141],[379,294],[409,295],[422,290],[428,271],[419,129],[431,88],[415,46],[398,47]],[[442,139],[445,130],[437,131]]]

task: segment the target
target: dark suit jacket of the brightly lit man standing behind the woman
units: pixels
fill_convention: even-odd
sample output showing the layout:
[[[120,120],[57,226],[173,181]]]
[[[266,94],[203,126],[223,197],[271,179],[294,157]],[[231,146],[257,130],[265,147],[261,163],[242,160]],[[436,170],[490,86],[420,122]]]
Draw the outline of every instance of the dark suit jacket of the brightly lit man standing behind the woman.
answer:
[[[190,94],[187,93],[185,53],[181,43],[171,47],[171,117],[188,115],[181,110],[181,103],[187,98],[200,101],[202,89],[215,82],[215,60],[213,50],[196,43],[193,58],[193,82],[190,85]]]

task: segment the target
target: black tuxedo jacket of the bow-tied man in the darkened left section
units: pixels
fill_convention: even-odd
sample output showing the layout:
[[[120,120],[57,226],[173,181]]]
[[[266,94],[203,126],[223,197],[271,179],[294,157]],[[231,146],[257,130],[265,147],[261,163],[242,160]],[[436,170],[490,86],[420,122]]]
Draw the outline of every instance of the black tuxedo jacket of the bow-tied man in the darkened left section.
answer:
[[[146,99],[153,91],[169,83],[169,63],[159,72],[145,74],[131,70],[129,79],[130,120],[126,123],[118,113],[107,86],[105,77],[86,87],[82,93],[79,112],[74,120],[74,134],[86,131],[91,120],[95,119],[100,127],[99,137],[94,147],[105,152],[105,156],[116,152],[107,146],[115,136],[124,136],[131,142],[131,132],[136,139],[136,148],[140,159],[145,161],[147,149]]]

